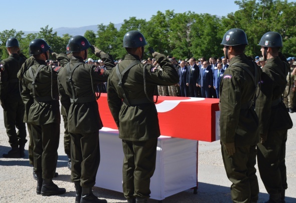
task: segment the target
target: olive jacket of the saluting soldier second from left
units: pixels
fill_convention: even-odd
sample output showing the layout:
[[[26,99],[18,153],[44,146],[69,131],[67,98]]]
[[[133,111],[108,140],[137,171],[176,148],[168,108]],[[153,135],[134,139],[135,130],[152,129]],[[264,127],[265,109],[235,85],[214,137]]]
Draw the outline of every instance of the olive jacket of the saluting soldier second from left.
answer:
[[[65,65],[69,59],[65,54],[61,54],[61,61],[63,61],[61,64]],[[51,65],[47,66],[45,61],[35,59],[34,65],[32,66],[34,76],[40,65],[45,66],[40,70],[35,80],[35,95],[36,97],[51,97],[55,100],[36,102],[33,96],[33,79],[31,78],[29,71],[26,71],[22,82],[22,99],[25,104],[28,122],[34,125],[60,123],[61,116],[57,83],[58,72],[54,71]],[[49,86],[49,84],[51,85]]]

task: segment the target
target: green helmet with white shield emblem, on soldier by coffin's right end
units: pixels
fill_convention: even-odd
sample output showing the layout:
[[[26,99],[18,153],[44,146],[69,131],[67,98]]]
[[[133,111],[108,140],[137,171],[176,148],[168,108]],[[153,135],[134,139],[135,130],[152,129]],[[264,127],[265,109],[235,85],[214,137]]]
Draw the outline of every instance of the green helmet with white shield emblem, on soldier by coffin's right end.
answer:
[[[231,29],[224,34],[221,45],[237,46],[248,45],[248,40],[245,32],[241,29]]]

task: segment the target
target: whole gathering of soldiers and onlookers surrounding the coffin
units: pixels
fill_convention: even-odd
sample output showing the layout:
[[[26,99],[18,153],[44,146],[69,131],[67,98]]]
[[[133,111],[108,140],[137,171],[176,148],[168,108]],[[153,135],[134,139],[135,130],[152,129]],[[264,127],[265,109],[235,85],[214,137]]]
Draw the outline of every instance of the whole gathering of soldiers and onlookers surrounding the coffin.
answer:
[[[227,31],[221,43],[224,56],[209,60],[177,61],[151,49],[154,58],[143,60],[146,44],[140,32],[127,32],[123,37],[127,54],[124,60],[114,61],[83,36],[69,40],[66,54],[52,52],[46,41],[35,39],[29,45],[32,56],[26,59],[19,52],[18,40],[8,39],[10,56],[0,64],[0,101],[12,149],[3,156],[25,156],[27,123],[36,193],[65,193],[52,180],[57,176],[62,115],[75,202],[107,202],[92,193],[102,128],[97,92],[106,92],[122,140],[124,197],[129,203],[145,203],[151,193],[160,136],[153,97],[158,85],[162,96],[219,99],[221,154],[232,182],[233,202],[257,202],[256,157],[269,193],[266,202],[285,202],[284,154],[287,129],[292,127],[288,112],[293,112],[296,62],[279,52],[281,36],[264,34],[259,43],[262,57],[255,59],[244,54],[248,42],[240,29]],[[87,59],[89,48],[100,60]],[[50,53],[57,61],[49,60]]]

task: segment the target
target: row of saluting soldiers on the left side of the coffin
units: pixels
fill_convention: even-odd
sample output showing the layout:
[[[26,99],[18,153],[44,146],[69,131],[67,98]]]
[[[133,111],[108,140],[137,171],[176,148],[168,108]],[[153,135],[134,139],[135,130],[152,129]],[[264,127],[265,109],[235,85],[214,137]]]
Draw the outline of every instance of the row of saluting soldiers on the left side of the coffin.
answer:
[[[5,122],[9,123],[6,127],[12,149],[3,156],[25,156],[27,123],[29,160],[34,166],[37,194],[48,196],[66,192],[52,180],[57,176],[55,170],[62,114],[65,152],[76,190],[75,202],[107,202],[97,198],[92,193],[92,187],[100,162],[99,129],[103,127],[96,102],[96,87],[106,82],[110,75],[108,102],[125,155],[123,193],[132,203],[146,202],[150,197],[150,178],[155,170],[157,138],[160,136],[154,90],[158,84],[176,84],[178,74],[166,56],[157,52],[153,56],[162,69],[148,64],[143,66],[140,60],[146,44],[144,36],[138,31],[126,33],[123,47],[128,54],[113,70],[112,57],[90,45],[83,36],[74,36],[69,40],[67,55],[54,53],[46,41],[35,39],[29,45],[31,57],[27,60],[18,54],[17,39],[8,40],[10,57],[1,63],[0,101],[5,111]],[[84,63],[88,48],[102,59],[106,68]],[[50,53],[61,66],[47,65]],[[119,77],[120,73],[122,77]],[[16,110],[17,107],[20,110]],[[125,112],[119,113],[120,109]],[[134,111],[138,113],[133,115]],[[18,119],[16,116],[19,116]],[[129,119],[126,120],[127,117]],[[144,122],[135,126],[139,119]],[[16,127],[18,133],[13,131]]]

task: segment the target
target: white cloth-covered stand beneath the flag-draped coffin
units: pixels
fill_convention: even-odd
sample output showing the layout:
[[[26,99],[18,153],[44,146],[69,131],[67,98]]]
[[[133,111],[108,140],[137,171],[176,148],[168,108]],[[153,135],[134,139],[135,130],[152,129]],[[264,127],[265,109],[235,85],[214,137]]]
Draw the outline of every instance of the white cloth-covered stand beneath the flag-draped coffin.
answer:
[[[101,160],[95,186],[122,192],[123,151],[118,131],[100,130]],[[156,169],[151,178],[151,198],[168,196],[197,186],[198,141],[160,136]]]

